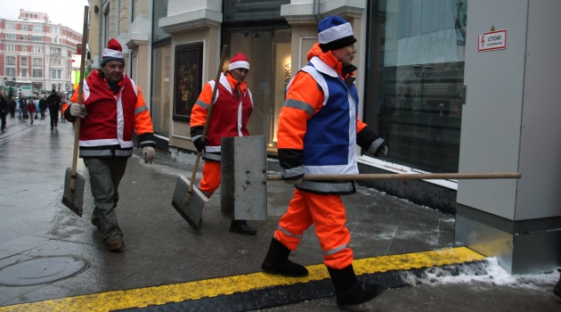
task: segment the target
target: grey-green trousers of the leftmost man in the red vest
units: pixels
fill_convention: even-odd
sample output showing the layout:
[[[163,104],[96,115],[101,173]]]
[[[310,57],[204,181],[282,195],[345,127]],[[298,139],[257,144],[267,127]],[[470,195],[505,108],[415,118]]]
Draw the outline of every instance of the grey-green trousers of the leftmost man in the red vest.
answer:
[[[125,175],[127,158],[84,159],[85,168],[90,174],[93,203],[92,224],[103,233],[103,241],[108,242],[115,236],[123,237],[118,226],[117,207],[118,184]]]

